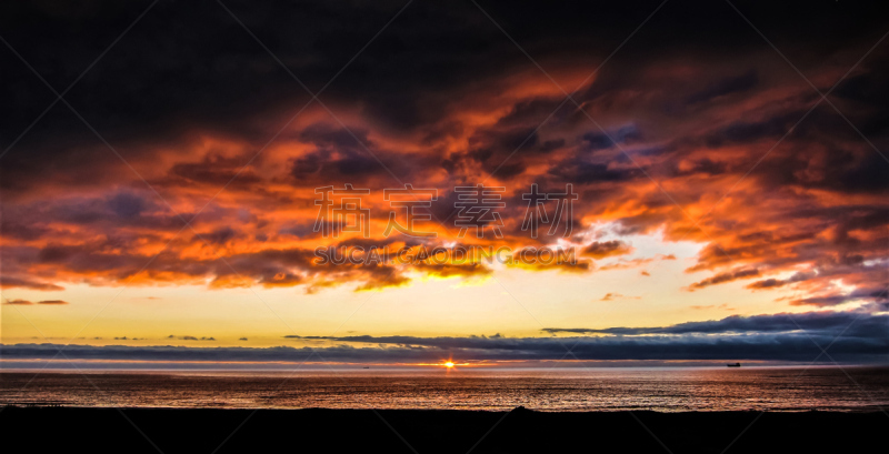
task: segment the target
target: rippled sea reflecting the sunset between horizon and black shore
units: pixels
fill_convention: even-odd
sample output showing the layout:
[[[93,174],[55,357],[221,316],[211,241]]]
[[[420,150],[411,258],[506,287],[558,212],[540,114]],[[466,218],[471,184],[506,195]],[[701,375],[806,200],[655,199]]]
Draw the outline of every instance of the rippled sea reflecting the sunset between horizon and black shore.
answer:
[[[848,375],[847,375],[848,373]],[[851,379],[850,379],[851,376]],[[0,403],[227,408],[875,411],[887,367],[4,372]]]

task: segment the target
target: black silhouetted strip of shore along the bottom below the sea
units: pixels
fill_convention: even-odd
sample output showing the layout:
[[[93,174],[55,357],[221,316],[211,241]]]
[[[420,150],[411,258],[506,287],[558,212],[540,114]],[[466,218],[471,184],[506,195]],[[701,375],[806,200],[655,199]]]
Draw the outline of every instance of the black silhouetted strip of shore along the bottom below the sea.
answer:
[[[218,453],[856,452],[883,445],[887,424],[889,417],[881,412],[547,413],[517,408],[507,413],[20,406],[0,411],[0,425],[8,441],[14,438],[33,452],[84,448],[93,453],[209,453],[217,448]]]

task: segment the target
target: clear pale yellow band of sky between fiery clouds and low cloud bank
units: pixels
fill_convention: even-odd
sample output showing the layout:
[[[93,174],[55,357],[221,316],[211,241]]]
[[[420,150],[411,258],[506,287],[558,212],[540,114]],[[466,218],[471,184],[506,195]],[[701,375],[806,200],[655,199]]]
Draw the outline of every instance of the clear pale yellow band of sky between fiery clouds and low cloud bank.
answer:
[[[120,294],[118,286],[64,283],[64,290],[51,296],[39,290],[2,289],[4,300],[51,299],[69,304],[0,304],[0,334],[2,342],[10,344],[303,347],[311,343],[321,347],[337,341],[286,336],[324,336],[342,330],[371,336],[533,337],[540,335],[541,323],[546,327],[662,326],[736,314],[808,310],[776,305],[772,297],[746,290],[745,281],[685,291],[703,278],[686,272],[696,263],[700,244],[665,241],[662,232],[625,236],[622,241],[635,252],[600,259],[597,268],[586,273],[528,271],[495,263],[496,281],[472,281],[470,285],[456,279],[414,279],[409,285],[379,291],[372,305],[363,305],[368,295],[354,292],[354,285],[311,294],[299,287],[220,291],[197,284],[134,285]],[[651,262],[641,262],[649,259]],[[642,271],[649,275],[640,278]],[[776,292],[785,296],[792,293]],[[349,315],[351,311],[357,311],[354,316]],[[540,314],[540,321],[529,312]],[[348,323],[340,326],[347,315]],[[424,365],[440,367],[444,361]]]

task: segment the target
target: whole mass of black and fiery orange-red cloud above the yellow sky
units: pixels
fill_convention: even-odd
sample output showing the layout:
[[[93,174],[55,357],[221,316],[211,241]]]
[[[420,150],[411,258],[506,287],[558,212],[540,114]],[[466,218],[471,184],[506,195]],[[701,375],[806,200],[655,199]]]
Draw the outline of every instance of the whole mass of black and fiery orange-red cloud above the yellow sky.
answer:
[[[28,20],[12,21],[4,39],[50,83],[82,64],[41,57],[47,49],[80,56],[104,46],[99,37],[68,42],[64,31],[119,22],[110,12],[63,18],[18,8]],[[158,20],[174,23],[196,8],[159,10]],[[776,24],[763,30],[822,92],[839,81],[831,102],[816,107],[818,93],[768,46],[731,38],[750,30],[725,4],[665,8],[595,74],[620,44],[615,37],[636,27],[637,8],[566,8],[535,10],[541,20],[522,27],[521,8],[491,7],[506,29],[526,30],[519,41],[546,74],[477,8],[412,4],[406,13],[416,17],[394,21],[342,72],[361,47],[344,42],[367,42],[392,8],[320,3],[310,13],[276,11],[280,23],[262,19],[262,8],[234,11],[262,24],[257,36],[307,87],[329,87],[318,100],[261,48],[247,47],[234,22],[213,18],[206,24],[220,33],[207,36],[134,30],[141,34],[121,41],[66,98],[113,151],[68,111],[53,109],[29,127],[46,108],[44,87],[6,56],[10,92],[19,94],[0,113],[8,148],[0,284],[379,290],[410,285],[416,274],[492,271],[478,261],[319,264],[316,248],[377,245],[391,254],[455,243],[513,252],[568,244],[576,263],[516,266],[593,273],[669,260],[623,258],[638,252],[627,236],[662,233],[702,246],[689,290],[755,280],[747,287],[763,297],[798,292],[791,304],[886,301],[889,163],[880,153],[889,149],[889,51],[875,48],[847,74],[882,33],[879,14],[806,3],[788,8],[802,14],[788,21],[745,6]],[[677,29],[678,18],[700,26]],[[41,30],[44,40],[28,39]],[[322,44],[334,37],[343,46]],[[472,214],[459,205],[458,188],[481,183],[502,188],[503,206],[499,218],[476,220],[481,236],[461,235]],[[368,191],[360,209],[369,211],[350,215],[366,215],[369,232],[326,236],[317,228],[333,223],[316,222],[316,190],[347,184]],[[383,234],[390,211],[406,222],[386,190],[406,184],[437,190],[420,210],[429,218],[414,225],[434,238]],[[542,206],[555,222],[558,202],[529,205],[533,184],[548,194],[570,185],[578,195],[570,220],[543,223],[536,236],[529,215]],[[615,238],[580,234],[599,225]]]

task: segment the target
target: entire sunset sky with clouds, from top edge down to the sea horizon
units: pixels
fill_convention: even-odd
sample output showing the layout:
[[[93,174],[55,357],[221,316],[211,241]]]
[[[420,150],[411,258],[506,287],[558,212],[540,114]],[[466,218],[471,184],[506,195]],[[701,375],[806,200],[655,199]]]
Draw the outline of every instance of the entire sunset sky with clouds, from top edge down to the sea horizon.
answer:
[[[883,16],[613,3],[3,4],[0,361],[887,362]]]

